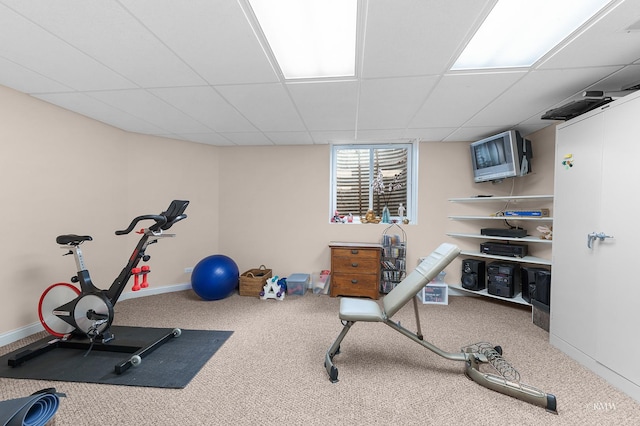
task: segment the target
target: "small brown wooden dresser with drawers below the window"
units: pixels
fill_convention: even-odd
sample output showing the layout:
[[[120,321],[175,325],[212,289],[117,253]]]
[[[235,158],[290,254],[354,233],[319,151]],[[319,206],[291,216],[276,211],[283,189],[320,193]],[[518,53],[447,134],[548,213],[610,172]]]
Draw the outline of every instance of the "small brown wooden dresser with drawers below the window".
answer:
[[[382,245],[331,242],[331,297],[380,294],[380,254]]]

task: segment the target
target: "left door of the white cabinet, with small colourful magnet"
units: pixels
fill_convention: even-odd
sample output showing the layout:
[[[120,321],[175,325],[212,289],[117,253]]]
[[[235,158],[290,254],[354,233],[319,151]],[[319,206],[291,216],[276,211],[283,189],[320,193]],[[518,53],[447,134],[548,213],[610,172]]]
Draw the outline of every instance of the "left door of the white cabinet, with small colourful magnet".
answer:
[[[549,331],[591,357],[596,348],[597,263],[587,235],[598,230],[602,134],[602,113],[559,126],[556,134]]]

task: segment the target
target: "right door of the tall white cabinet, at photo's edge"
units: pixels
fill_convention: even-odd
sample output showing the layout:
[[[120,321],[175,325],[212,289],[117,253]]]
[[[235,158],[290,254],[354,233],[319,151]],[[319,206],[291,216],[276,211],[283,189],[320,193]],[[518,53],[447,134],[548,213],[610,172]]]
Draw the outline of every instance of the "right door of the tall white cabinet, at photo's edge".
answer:
[[[616,103],[604,114],[600,227],[614,238],[598,240],[598,362],[640,386],[640,98]]]

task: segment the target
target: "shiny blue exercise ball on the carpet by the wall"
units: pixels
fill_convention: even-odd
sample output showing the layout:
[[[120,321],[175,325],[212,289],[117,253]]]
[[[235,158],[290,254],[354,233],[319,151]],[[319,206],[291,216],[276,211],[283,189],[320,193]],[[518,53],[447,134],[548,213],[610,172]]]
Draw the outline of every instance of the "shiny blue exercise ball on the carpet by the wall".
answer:
[[[205,257],[191,272],[191,287],[204,300],[220,300],[238,288],[240,271],[228,256],[214,254]]]

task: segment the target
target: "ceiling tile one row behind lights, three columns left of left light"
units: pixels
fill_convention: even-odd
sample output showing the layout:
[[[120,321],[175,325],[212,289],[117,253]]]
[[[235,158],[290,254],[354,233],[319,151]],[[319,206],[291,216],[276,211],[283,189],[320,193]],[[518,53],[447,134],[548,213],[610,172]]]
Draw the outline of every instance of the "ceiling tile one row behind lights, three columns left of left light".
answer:
[[[169,130],[169,133],[199,133],[213,130],[146,90],[115,90],[87,94],[161,129]]]

